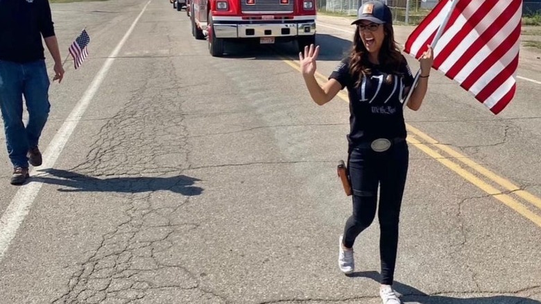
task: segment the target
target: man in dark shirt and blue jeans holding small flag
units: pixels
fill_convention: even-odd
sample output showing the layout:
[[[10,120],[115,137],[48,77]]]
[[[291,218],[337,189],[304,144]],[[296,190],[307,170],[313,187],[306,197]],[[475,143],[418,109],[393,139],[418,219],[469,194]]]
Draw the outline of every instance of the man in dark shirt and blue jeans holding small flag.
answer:
[[[13,164],[12,185],[28,178],[28,162],[37,167],[42,154],[37,144],[49,117],[49,76],[42,37],[55,61],[53,81],[64,69],[48,0],[0,0],[0,108],[8,155]],[[24,126],[23,96],[28,109]]]

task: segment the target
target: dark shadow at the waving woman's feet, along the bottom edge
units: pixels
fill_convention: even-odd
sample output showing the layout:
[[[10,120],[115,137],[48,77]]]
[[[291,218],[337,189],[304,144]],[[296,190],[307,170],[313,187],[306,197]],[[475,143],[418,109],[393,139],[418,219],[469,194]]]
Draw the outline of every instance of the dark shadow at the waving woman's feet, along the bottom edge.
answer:
[[[380,281],[380,276],[377,271],[362,271],[354,272],[349,275],[352,278],[370,278],[377,282]],[[420,304],[541,304],[540,301],[535,301],[530,298],[522,298],[519,296],[487,296],[478,298],[452,298],[450,296],[430,296],[415,289],[409,285],[395,281],[393,289],[399,294],[402,294],[400,299],[403,302],[414,302]]]

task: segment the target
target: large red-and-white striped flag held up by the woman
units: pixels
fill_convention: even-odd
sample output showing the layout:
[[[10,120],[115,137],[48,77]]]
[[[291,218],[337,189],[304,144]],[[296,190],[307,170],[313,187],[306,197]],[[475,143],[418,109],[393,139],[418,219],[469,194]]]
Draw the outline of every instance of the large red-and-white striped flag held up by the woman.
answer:
[[[411,33],[404,51],[420,58],[446,17],[433,68],[498,114],[515,96],[522,0],[440,0]]]

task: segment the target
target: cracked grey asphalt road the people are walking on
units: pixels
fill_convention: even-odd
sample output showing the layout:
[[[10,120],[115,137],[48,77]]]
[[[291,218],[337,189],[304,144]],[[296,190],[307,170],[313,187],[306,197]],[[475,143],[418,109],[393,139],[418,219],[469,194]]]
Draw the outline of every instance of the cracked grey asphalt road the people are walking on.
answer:
[[[337,267],[347,103],[309,99],[293,44],[212,58],[166,0],[52,8],[63,56],[86,27],[89,58],[51,85],[26,185],[0,149],[0,303],[381,303],[377,221]],[[351,30],[318,18],[321,78]],[[437,71],[407,112],[404,303],[541,303],[539,57],[497,116]]]

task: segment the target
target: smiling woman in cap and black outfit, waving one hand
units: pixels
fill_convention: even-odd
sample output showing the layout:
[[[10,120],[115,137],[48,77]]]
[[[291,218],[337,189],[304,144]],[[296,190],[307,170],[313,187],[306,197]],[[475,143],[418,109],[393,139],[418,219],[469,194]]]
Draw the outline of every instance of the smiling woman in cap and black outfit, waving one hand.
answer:
[[[302,76],[310,96],[318,105],[332,100],[347,87],[350,99],[350,134],[347,167],[352,185],[353,212],[340,237],[338,266],[354,271],[353,244],[375,218],[379,186],[379,251],[384,304],[400,304],[393,292],[398,244],[400,205],[408,171],[403,103],[418,110],[427,92],[433,62],[431,47],[420,59],[420,79],[405,101],[413,76],[406,58],[397,49],[391,12],[381,1],[364,3],[357,14],[352,51],[332,71],[321,87],[314,77],[319,47],[299,53]]]

